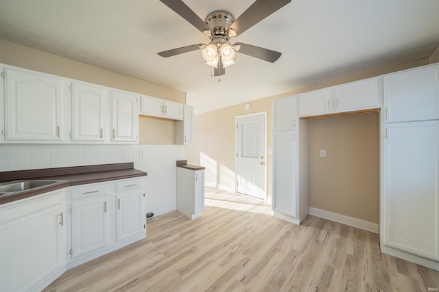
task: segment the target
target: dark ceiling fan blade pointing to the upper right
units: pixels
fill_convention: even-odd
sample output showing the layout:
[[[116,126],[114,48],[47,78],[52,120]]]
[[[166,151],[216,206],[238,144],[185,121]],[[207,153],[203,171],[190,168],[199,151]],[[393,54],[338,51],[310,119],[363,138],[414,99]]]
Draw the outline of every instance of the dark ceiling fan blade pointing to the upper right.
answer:
[[[237,35],[240,35],[253,25],[259,23],[259,21],[283,8],[289,2],[291,0],[256,0],[228,27],[228,31],[233,29],[237,32]]]

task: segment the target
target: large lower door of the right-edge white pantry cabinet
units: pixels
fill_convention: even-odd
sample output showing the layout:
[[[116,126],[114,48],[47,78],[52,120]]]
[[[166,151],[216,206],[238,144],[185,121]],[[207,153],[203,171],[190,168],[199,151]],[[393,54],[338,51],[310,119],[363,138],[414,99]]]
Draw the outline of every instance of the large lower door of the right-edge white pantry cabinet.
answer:
[[[439,121],[383,130],[383,243],[438,261]]]

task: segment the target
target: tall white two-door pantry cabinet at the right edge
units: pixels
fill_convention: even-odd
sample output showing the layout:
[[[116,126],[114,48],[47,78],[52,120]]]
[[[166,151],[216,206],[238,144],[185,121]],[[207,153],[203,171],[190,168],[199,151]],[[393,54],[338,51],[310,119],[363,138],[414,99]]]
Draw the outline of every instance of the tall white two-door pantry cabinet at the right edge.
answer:
[[[439,267],[439,65],[383,77],[381,251]],[[408,254],[407,254],[408,253]]]

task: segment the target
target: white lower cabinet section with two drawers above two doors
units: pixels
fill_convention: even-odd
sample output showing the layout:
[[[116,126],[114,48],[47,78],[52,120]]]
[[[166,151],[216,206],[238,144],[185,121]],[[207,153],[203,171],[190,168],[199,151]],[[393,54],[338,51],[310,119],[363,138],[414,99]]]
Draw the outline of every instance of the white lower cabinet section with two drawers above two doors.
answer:
[[[145,238],[145,177],[79,185],[69,192],[68,268]]]

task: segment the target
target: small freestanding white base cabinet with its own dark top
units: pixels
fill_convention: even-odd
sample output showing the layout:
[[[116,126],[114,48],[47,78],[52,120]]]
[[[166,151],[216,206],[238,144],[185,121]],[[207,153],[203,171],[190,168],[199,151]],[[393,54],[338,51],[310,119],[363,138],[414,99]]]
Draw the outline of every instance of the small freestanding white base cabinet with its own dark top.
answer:
[[[177,168],[177,210],[194,219],[204,210],[204,169]]]

